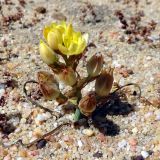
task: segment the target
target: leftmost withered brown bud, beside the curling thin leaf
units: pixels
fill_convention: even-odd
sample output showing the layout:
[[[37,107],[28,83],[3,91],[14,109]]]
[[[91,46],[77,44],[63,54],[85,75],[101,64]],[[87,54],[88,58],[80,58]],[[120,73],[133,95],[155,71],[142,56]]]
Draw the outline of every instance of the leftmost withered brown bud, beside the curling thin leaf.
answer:
[[[59,97],[59,86],[52,74],[45,71],[40,71],[37,73],[37,77],[40,90],[46,99],[51,100]]]

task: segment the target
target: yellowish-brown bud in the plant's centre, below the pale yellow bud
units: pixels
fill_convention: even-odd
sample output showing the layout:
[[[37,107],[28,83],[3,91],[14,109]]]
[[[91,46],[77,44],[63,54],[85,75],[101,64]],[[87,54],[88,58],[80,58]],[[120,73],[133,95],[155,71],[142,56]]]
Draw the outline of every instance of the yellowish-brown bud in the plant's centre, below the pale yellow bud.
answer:
[[[77,82],[76,74],[71,67],[63,68],[58,74],[57,78],[64,84],[73,86]]]

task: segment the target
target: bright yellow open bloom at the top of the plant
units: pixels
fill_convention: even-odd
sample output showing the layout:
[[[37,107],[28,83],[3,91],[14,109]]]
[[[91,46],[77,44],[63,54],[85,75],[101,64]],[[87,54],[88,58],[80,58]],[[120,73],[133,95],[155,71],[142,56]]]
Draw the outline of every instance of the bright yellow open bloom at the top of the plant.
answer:
[[[81,54],[88,41],[88,34],[74,31],[72,24],[67,25],[66,22],[46,26],[43,35],[50,48],[67,56]]]

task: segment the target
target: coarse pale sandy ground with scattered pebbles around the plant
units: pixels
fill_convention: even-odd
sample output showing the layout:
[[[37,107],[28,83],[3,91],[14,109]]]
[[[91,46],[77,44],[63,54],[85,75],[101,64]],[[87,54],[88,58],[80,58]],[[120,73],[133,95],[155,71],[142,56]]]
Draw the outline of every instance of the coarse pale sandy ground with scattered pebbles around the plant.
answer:
[[[0,113],[20,113],[10,120],[16,126],[12,133],[0,132],[0,160],[160,160],[159,0],[0,2]],[[138,22],[137,17],[140,17]],[[3,147],[1,142],[12,143],[18,139],[29,143],[72,119],[70,113],[56,121],[32,106],[22,89],[25,81],[36,80],[37,71],[48,70],[38,52],[43,27],[52,21],[72,19],[76,30],[90,35],[87,57],[97,52],[103,54],[106,66],[116,67],[115,81],[120,85],[139,84],[143,101],[136,102],[134,111],[131,106],[127,110],[128,105],[109,108],[105,134],[93,125],[89,128],[93,133],[91,137],[84,134],[84,127],[66,126],[60,133],[48,137],[42,149],[21,145]],[[133,29],[132,25],[136,27]],[[5,57],[8,59],[4,60]],[[85,70],[79,66],[81,73]],[[92,89],[90,85],[84,92]],[[40,96],[36,91],[34,94]],[[44,107],[61,111],[55,102],[43,98],[40,102]],[[48,119],[37,122],[36,117],[43,113],[49,115]],[[0,122],[2,120],[0,117]]]

